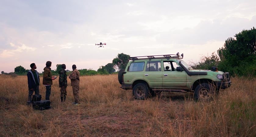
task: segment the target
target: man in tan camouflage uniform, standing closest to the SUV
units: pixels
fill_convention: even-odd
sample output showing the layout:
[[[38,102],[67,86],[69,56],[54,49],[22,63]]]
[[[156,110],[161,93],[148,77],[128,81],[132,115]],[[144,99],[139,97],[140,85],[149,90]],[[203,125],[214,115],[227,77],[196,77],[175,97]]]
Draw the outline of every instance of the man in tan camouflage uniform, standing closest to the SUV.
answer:
[[[78,104],[80,104],[80,99],[79,99],[79,83],[80,83],[79,76],[80,76],[80,73],[78,70],[76,70],[76,65],[72,65],[72,69],[73,69],[73,71],[69,75],[69,79],[71,81],[71,86],[72,86],[72,90],[73,90],[73,95],[75,98],[75,102],[73,102],[72,104],[78,105]]]

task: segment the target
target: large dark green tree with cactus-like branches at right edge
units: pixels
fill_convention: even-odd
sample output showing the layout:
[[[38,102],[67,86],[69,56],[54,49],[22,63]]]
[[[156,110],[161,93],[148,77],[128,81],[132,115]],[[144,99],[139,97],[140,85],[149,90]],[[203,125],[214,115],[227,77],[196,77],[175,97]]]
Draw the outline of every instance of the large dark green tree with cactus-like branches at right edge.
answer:
[[[217,52],[221,59],[219,68],[231,75],[256,76],[256,29],[243,30],[228,38]]]

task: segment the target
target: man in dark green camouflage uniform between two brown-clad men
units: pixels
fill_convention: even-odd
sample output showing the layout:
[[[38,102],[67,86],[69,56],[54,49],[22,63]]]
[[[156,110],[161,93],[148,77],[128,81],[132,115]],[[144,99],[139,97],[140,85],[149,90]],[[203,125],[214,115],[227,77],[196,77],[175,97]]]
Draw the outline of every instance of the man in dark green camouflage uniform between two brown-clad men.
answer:
[[[66,95],[67,95],[67,74],[66,74],[66,65],[62,64],[61,65],[61,70],[59,71],[59,87],[60,87],[60,99],[61,102],[66,100]]]

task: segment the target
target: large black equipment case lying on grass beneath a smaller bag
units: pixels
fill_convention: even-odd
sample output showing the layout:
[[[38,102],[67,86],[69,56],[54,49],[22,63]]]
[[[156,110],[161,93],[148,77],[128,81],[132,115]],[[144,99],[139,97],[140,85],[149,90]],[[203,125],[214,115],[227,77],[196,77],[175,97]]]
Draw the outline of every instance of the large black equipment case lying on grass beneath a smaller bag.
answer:
[[[33,106],[35,110],[46,110],[51,108],[50,100],[41,100],[41,101],[27,101],[27,105]]]

